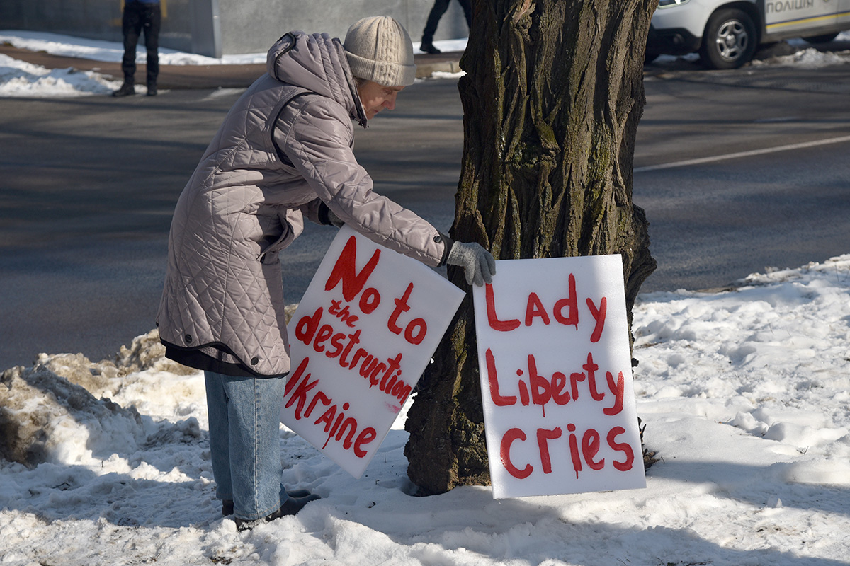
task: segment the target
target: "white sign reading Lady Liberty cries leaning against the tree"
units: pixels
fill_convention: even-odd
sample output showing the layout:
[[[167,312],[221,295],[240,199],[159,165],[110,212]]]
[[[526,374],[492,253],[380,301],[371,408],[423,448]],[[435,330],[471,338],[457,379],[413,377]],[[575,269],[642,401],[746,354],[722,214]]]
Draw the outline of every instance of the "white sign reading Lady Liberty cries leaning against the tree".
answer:
[[[621,257],[497,261],[473,300],[493,497],[646,487]]]

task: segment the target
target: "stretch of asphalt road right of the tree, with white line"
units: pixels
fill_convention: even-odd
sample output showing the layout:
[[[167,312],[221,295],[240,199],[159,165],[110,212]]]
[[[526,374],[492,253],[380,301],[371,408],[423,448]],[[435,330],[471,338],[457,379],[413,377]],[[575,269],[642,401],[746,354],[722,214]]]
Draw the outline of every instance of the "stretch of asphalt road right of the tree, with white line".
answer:
[[[850,253],[846,67],[681,70],[645,85],[633,199],[659,265],[643,291]]]

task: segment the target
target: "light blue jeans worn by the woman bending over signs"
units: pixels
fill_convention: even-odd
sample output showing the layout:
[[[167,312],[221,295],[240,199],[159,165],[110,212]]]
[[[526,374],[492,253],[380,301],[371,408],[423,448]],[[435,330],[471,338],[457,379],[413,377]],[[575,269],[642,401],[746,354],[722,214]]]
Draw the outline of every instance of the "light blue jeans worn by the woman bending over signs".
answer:
[[[212,475],[218,499],[238,518],[275,513],[286,502],[280,462],[280,405],[286,378],[204,372]]]

